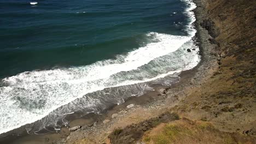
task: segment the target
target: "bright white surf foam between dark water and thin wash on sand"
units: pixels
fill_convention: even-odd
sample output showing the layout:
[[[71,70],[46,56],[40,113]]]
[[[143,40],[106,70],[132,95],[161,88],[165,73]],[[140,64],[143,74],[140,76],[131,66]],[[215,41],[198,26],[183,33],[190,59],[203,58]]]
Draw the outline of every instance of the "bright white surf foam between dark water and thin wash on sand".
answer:
[[[191,3],[191,7],[186,10],[191,16],[187,37],[151,32],[146,37],[152,43],[126,55],[118,55],[115,59],[80,67],[25,72],[3,79],[7,86],[0,87],[0,134],[42,119],[51,111],[82,98],[87,93],[108,87],[153,81],[195,67],[199,62],[198,50],[181,55],[182,62],[175,63],[175,59],[172,59],[173,63],[166,65],[173,64],[173,67],[166,67],[162,70],[163,73],[147,74],[147,70],[144,70],[150,63],[155,62],[158,65],[161,61],[169,62],[170,59],[165,57],[168,53],[181,47],[187,49],[193,46],[191,38],[196,31],[191,28],[191,23],[195,18],[190,10],[194,8],[195,5]],[[181,59],[177,58],[175,61]],[[156,65],[156,71],[161,71],[161,67]],[[97,103],[100,103],[97,99],[90,99],[85,107]]]

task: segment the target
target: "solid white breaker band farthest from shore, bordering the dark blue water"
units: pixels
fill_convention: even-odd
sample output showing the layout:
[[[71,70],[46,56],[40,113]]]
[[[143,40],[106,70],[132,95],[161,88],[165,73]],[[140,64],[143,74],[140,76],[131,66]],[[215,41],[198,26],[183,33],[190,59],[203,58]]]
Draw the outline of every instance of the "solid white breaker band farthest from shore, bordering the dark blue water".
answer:
[[[96,62],[82,67],[72,67],[68,69],[54,69],[26,72],[16,76],[7,77],[3,81],[10,86],[30,84],[30,83],[50,83],[50,82],[80,82],[106,79],[110,75],[120,71],[137,69],[141,65],[147,64],[157,57],[176,51],[190,37],[182,37],[160,33],[148,33],[147,37],[152,38],[156,43],[150,43],[144,47],[127,53],[118,55],[117,59]]]

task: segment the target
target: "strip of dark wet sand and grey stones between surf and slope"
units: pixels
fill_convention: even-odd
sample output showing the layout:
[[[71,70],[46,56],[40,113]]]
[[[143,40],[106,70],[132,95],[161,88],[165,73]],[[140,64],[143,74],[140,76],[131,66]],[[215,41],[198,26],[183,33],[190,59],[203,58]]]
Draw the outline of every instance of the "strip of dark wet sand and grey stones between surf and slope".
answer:
[[[200,17],[196,18],[197,21],[200,19]],[[216,67],[217,63],[216,58],[210,54],[212,52],[212,49],[210,48],[214,47],[214,45],[210,43],[201,43],[202,40],[205,41],[209,38],[208,33],[205,31],[202,33],[202,29],[199,29],[199,23],[195,24],[195,27],[198,31],[196,34],[197,39],[195,43],[199,44],[200,47],[201,62],[191,70],[182,71],[182,73],[179,75],[181,77],[180,81],[173,83],[171,87],[156,85],[154,86],[155,91],[149,91],[140,97],[130,97],[125,101],[124,104],[112,106],[103,115],[90,113],[82,118],[74,119],[71,121],[70,127],[77,125],[82,126],[82,129],[79,131],[74,131],[75,133],[70,133],[68,128],[62,128],[60,133],[50,133],[44,135],[28,135],[26,134],[26,131],[24,131],[21,136],[14,136],[10,133],[7,137],[2,138],[0,143],[63,143],[67,141],[66,139],[68,136],[72,137],[72,135],[79,133],[77,136],[83,137],[83,135],[95,133],[95,131],[100,132],[101,130],[98,130],[98,127],[104,130],[104,128],[109,127],[109,125],[117,124],[117,119],[112,118],[114,113],[119,113],[119,119],[121,119],[122,117],[127,117],[127,115],[132,115],[131,113],[139,115],[139,113],[136,112],[139,112],[139,109],[142,109],[142,107],[143,109],[148,109],[148,111],[153,111],[152,107],[158,106],[159,109],[157,109],[156,112],[152,112],[152,116],[156,116],[156,113],[176,105],[191,87],[194,85],[201,85],[207,74],[211,73],[211,71]],[[130,104],[135,105],[135,107],[128,110],[127,105]],[[105,119],[109,119],[110,122],[103,124],[102,122]],[[127,124],[129,124],[129,122],[127,122],[126,125]],[[71,138],[69,141],[73,141],[78,137],[73,136],[73,139]]]

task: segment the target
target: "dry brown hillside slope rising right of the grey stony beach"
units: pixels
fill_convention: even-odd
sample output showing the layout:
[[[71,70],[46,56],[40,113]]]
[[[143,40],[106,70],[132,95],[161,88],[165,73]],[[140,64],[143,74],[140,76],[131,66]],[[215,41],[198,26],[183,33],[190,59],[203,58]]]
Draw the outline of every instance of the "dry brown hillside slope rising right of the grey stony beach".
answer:
[[[223,131],[256,134],[256,1],[195,1],[205,13],[200,22],[216,44],[219,67],[178,111],[201,116]],[[199,13],[198,10],[196,13]]]

